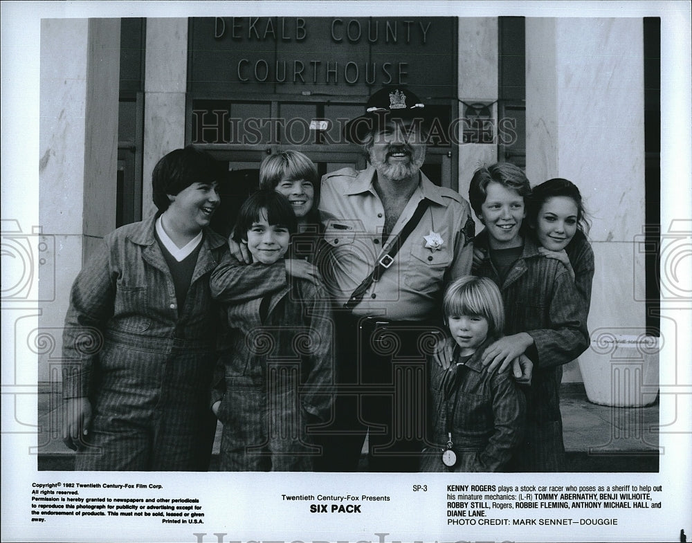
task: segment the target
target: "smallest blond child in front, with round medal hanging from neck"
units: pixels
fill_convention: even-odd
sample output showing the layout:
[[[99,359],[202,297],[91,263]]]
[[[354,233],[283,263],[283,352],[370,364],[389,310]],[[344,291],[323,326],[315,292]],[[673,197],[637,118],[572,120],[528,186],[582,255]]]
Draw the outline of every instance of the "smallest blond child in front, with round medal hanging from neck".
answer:
[[[525,401],[509,371],[481,363],[485,347],[502,336],[500,290],[466,275],[448,287],[442,309],[450,335],[428,357],[430,443],[421,471],[502,471],[520,442]]]

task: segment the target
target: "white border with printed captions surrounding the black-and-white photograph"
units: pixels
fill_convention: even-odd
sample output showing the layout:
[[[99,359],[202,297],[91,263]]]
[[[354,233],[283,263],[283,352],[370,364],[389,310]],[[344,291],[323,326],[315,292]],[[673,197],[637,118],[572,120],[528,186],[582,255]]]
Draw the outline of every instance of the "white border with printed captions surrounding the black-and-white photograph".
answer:
[[[691,11],[689,2],[15,2],[1,4],[2,30],[2,218],[19,218],[22,226],[39,224],[39,42],[42,18],[202,17],[217,15],[426,15],[487,17],[661,17],[662,134],[661,224],[690,221],[691,212]],[[689,224],[689,223],[688,223]],[[692,248],[691,248],[692,250]],[[5,261],[3,259],[3,265]],[[689,271],[689,266],[686,268]],[[4,272],[3,272],[4,273]],[[692,292],[692,288],[688,292]],[[692,360],[689,336],[677,345],[675,364],[661,363],[661,426],[664,450],[658,473],[488,474],[464,477],[468,484],[637,484],[660,485],[663,507],[646,514],[617,513],[617,526],[466,526],[446,524],[445,474],[323,473],[102,473],[38,472],[35,426],[37,409],[34,360],[17,360],[6,349],[15,317],[3,306],[2,351],[2,540],[53,542],[402,542],[402,541],[659,541],[692,534]],[[36,319],[40,307],[21,306],[23,317]],[[689,304],[662,314],[689,331]],[[24,430],[17,431],[17,427]],[[161,485],[143,495],[199,499],[202,524],[159,524],[152,519],[55,517],[31,522],[33,484]],[[416,485],[426,485],[414,491]],[[47,488],[47,487],[41,487]],[[116,490],[109,491],[117,494]],[[309,501],[282,495],[387,495],[361,515],[316,515]],[[188,503],[188,502],[185,502]],[[356,502],[358,503],[358,502]],[[362,501],[361,501],[362,503]],[[588,515],[587,515],[588,516]],[[603,516],[603,515],[601,515]],[[79,522],[75,522],[78,520]],[[130,522],[132,521],[132,522]],[[221,534],[221,535],[219,535]]]

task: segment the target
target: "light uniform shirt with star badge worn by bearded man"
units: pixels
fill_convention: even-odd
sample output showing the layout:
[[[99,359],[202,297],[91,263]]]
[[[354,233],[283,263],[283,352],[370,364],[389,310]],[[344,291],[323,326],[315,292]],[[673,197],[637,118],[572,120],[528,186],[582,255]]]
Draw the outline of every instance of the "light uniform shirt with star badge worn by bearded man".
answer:
[[[384,207],[374,190],[375,169],[340,169],[322,178],[320,215],[325,241],[331,246],[320,266],[336,306],[343,306],[376,261],[383,255]],[[471,273],[473,219],[466,200],[457,192],[434,185],[422,172],[421,182],[390,232],[401,231],[421,199],[429,205],[394,262],[365,293],[354,315],[390,320],[432,320],[440,315],[444,288]],[[426,247],[426,236],[437,234],[439,248]],[[385,245],[386,245],[385,241]]]

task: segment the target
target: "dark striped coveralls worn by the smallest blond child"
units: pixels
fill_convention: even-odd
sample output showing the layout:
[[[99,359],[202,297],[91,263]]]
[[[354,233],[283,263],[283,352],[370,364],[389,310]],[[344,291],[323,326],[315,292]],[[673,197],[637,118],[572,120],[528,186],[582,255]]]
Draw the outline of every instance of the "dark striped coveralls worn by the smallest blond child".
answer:
[[[523,432],[525,400],[509,371],[489,374],[480,358],[486,341],[465,365],[458,365],[459,347],[442,340],[428,356],[430,372],[430,437],[421,470],[494,472],[502,470]],[[441,462],[451,432],[457,465]]]

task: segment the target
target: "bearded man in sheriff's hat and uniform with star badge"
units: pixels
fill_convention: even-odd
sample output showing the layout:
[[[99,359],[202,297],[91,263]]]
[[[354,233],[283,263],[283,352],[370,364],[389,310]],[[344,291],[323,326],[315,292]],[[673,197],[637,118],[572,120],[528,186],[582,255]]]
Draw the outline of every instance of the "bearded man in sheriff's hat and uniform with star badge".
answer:
[[[334,300],[338,394],[320,470],[358,469],[366,434],[371,471],[418,469],[425,356],[443,333],[445,286],[471,273],[474,230],[466,200],[421,172],[430,120],[408,89],[381,89],[345,127],[367,168],[322,178],[318,261]]]

